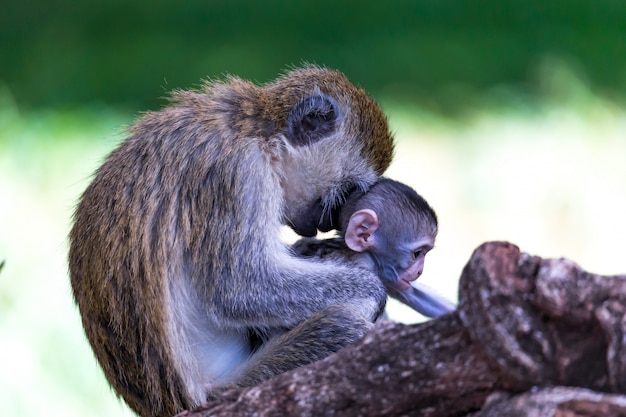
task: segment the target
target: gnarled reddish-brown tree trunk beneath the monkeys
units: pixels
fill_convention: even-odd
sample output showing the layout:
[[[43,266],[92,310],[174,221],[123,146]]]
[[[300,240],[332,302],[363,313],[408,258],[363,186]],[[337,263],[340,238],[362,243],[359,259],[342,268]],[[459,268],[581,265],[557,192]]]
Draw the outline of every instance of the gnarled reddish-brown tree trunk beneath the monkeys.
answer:
[[[381,323],[325,360],[181,415],[626,415],[626,397],[602,394],[626,393],[625,301],[626,275],[486,243],[454,313]],[[557,385],[579,388],[537,391]]]

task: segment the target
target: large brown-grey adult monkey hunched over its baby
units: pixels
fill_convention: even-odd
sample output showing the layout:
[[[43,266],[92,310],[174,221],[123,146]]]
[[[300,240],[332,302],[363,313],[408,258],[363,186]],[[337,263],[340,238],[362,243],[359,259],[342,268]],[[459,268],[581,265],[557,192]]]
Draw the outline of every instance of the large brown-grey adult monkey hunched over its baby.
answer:
[[[296,257],[279,230],[336,227],[392,152],[380,107],[313,66],[175,92],[139,119],[81,197],[69,253],[85,332],[131,408],[173,415],[359,339],[381,281]]]

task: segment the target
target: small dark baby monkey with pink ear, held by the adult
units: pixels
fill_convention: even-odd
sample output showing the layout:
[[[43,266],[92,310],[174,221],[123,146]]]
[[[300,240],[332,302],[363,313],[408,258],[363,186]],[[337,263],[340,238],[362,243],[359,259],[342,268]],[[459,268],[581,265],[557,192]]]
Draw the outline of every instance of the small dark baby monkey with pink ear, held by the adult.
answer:
[[[355,191],[339,213],[340,236],[300,239],[301,255],[344,260],[374,271],[389,296],[427,317],[455,310],[454,304],[415,283],[437,237],[437,215],[411,187],[380,179],[366,193]]]

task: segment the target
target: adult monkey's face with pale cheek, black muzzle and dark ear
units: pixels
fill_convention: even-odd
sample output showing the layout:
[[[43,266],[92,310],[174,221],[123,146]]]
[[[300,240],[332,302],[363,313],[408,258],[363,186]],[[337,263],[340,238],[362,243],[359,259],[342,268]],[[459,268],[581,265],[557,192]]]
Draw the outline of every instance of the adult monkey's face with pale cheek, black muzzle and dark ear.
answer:
[[[279,162],[284,222],[302,236],[339,227],[338,210],[347,194],[367,190],[379,167],[367,157],[355,117],[334,99],[314,93],[294,106],[284,132]]]

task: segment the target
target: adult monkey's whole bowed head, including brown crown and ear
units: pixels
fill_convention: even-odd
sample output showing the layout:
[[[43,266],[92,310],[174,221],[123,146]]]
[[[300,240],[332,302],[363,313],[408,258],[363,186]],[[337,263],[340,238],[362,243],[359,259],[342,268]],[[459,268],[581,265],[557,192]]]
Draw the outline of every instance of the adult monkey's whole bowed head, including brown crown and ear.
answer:
[[[325,68],[292,71],[268,88],[287,112],[277,122],[283,222],[303,236],[339,227],[345,196],[367,190],[391,162],[384,113],[343,74]]]

